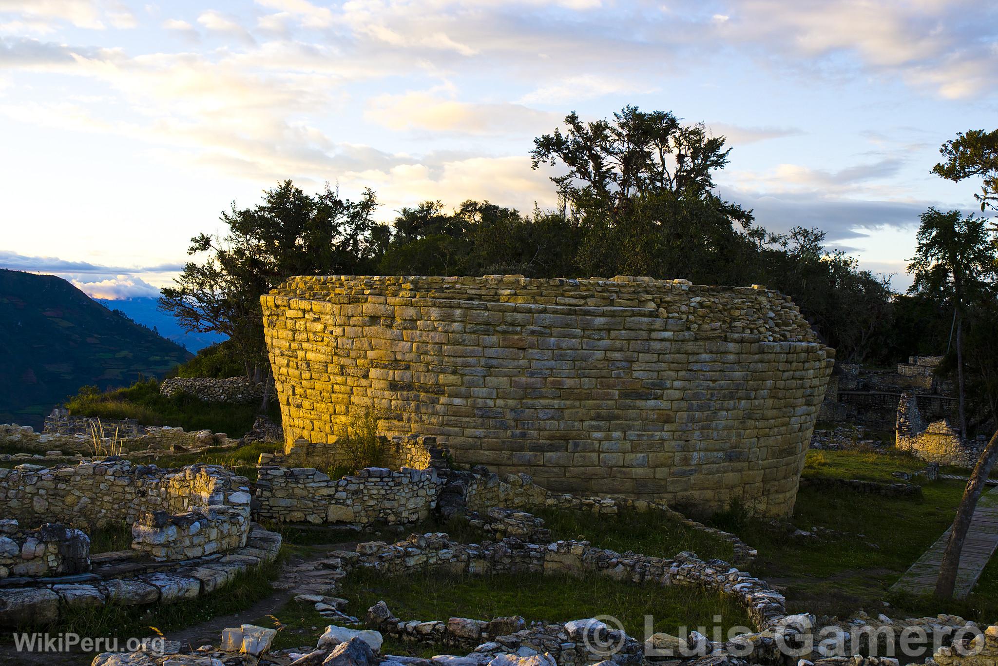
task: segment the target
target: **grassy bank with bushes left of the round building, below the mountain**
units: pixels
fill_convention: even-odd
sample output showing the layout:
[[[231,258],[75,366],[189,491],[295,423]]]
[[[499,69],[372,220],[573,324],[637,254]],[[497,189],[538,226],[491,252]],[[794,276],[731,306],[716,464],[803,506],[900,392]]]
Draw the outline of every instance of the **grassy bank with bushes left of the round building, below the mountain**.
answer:
[[[71,396],[66,406],[73,414],[100,416],[101,418],[135,418],[142,425],[172,425],[185,430],[212,430],[241,437],[252,427],[258,404],[229,404],[203,402],[193,395],[160,394],[156,379],[138,381],[128,388],[105,392],[94,386],[84,386]],[[276,405],[271,404],[268,414],[280,421]]]

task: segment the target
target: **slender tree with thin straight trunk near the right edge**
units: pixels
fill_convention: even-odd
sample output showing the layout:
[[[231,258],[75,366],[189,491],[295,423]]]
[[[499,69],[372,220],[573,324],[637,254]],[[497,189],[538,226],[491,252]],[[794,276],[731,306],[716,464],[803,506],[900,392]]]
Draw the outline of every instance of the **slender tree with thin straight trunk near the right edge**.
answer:
[[[990,289],[995,272],[994,245],[984,220],[964,217],[960,211],[934,208],[921,215],[915,257],[908,273],[914,282],[910,294],[948,301],[954,317],[960,432],[967,436],[966,390],[963,363],[963,322],[967,303]]]

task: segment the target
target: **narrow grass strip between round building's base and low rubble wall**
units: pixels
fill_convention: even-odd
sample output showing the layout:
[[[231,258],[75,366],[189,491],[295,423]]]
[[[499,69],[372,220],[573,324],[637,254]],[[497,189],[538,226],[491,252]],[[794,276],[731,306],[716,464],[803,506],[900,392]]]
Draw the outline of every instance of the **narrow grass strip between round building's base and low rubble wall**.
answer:
[[[598,519],[589,511],[537,509],[534,514],[544,519],[545,526],[556,539],[581,538],[618,552],[631,550],[673,557],[689,550],[702,559],[718,558],[728,562],[735,556],[732,544],[727,541],[653,511],[624,511],[618,515],[601,515]]]

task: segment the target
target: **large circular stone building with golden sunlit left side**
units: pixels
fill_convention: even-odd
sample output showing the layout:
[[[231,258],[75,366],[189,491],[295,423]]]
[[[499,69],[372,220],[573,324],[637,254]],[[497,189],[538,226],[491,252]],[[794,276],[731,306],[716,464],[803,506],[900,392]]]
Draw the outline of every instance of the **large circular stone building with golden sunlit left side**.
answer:
[[[834,357],[761,287],[331,276],[261,301],[287,449],[375,414],[459,464],[704,511],[792,511]]]

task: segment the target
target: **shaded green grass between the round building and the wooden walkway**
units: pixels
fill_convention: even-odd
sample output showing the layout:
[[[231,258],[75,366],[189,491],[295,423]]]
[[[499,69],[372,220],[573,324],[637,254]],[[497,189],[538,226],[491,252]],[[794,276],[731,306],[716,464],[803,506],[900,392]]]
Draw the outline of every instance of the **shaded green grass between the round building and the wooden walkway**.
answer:
[[[891,471],[915,471],[924,465],[900,454],[862,451],[808,451],[804,476],[896,481]],[[917,480],[917,477],[916,477]],[[998,620],[998,565],[988,569],[964,601],[940,603],[888,591],[900,575],[952,523],[962,496],[962,481],[921,481],[922,498],[888,498],[849,489],[802,487],[792,527],[835,530],[819,539],[790,538],[787,529],[750,517],[738,508],[712,522],[735,532],[759,559],[751,572],[786,588],[791,610],[846,615],[869,613],[919,615],[953,612],[981,621]]]

